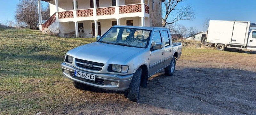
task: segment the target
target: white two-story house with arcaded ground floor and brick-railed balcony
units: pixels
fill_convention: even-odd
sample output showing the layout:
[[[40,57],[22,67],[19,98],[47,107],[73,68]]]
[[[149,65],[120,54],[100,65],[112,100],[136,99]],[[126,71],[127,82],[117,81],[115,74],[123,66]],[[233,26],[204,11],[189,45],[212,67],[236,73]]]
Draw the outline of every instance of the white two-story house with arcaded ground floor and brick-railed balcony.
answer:
[[[51,17],[39,28],[61,37],[95,37],[114,25],[162,26],[162,0],[42,0],[49,2]]]

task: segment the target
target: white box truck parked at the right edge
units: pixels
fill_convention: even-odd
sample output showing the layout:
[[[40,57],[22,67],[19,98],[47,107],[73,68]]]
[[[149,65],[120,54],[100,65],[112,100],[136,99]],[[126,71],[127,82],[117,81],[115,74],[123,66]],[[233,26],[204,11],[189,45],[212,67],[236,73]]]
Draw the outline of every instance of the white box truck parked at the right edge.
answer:
[[[210,20],[206,42],[217,50],[256,51],[256,24],[250,21]]]

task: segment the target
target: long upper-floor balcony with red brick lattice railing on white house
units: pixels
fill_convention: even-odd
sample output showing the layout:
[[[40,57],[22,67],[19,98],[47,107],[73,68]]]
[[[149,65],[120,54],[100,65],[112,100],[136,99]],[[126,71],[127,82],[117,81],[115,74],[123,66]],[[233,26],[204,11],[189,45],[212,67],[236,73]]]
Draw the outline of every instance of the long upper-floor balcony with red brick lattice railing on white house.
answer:
[[[120,19],[126,17],[149,17],[149,6],[146,4],[129,4],[101,8],[79,9],[57,12],[59,22]]]

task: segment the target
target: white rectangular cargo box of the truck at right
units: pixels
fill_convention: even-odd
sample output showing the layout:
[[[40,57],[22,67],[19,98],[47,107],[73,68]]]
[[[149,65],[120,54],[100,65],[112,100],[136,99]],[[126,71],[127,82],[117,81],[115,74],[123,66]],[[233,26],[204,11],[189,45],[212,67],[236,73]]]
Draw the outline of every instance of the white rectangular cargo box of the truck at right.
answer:
[[[210,20],[206,42],[246,46],[249,29],[250,21]]]

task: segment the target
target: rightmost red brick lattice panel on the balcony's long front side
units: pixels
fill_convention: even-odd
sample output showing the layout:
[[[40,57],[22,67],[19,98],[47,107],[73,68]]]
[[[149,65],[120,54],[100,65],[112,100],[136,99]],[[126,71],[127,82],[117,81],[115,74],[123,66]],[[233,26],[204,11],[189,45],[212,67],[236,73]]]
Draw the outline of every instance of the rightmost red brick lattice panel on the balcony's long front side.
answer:
[[[133,12],[141,12],[141,4],[136,5],[126,5],[119,7],[119,13],[133,13]]]

